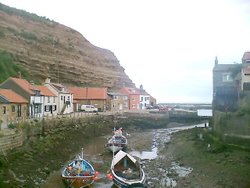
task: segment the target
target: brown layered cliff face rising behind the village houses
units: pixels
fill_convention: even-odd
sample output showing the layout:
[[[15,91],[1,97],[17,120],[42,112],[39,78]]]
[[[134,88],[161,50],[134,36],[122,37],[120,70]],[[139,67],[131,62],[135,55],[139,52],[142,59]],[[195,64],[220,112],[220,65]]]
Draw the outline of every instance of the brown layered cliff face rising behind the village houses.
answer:
[[[50,77],[66,85],[134,86],[111,51],[69,27],[1,3],[0,49],[12,53],[15,63],[41,82]]]

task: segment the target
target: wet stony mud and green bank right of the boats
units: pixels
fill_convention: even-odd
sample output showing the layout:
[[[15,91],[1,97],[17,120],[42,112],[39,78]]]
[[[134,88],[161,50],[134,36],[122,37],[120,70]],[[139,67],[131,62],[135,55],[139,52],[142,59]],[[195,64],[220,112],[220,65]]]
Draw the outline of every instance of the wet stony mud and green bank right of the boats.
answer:
[[[212,151],[203,138],[210,128],[178,126],[130,135],[130,153],[140,158],[149,188],[250,187],[249,151]]]

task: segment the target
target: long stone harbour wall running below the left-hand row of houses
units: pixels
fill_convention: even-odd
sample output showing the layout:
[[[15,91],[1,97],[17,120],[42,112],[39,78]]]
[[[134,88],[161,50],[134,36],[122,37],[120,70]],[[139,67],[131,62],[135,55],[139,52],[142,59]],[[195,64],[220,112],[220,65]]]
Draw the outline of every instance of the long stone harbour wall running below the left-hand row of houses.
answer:
[[[60,135],[67,137],[77,130],[82,136],[93,137],[109,134],[113,128],[125,130],[160,128],[168,124],[169,118],[161,114],[126,113],[124,115],[61,116],[53,119],[33,119],[16,125],[9,134],[0,136],[1,151],[20,147],[23,143]]]

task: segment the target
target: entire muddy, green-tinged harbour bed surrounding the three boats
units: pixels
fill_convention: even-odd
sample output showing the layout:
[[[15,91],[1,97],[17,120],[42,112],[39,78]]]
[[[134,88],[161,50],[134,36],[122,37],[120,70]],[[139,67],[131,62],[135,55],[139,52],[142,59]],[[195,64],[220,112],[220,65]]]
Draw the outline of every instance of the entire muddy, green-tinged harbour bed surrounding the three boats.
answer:
[[[60,173],[83,148],[99,172],[93,187],[115,188],[106,178],[112,153],[104,148],[114,127],[112,117],[61,126],[64,122],[1,158],[0,187],[63,188]],[[140,158],[148,188],[250,187],[249,151],[226,146],[209,127],[180,131],[191,127],[158,117],[120,118],[119,125],[128,137],[127,152]]]

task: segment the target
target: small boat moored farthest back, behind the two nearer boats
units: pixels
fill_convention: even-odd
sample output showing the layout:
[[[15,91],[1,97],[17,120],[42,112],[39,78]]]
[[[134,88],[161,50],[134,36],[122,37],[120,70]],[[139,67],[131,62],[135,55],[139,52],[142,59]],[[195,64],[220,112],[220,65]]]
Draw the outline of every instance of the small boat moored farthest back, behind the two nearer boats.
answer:
[[[111,152],[116,153],[119,150],[124,150],[127,148],[128,140],[122,134],[122,129],[115,130],[114,135],[108,139],[108,143],[105,144],[105,147],[108,148]]]

